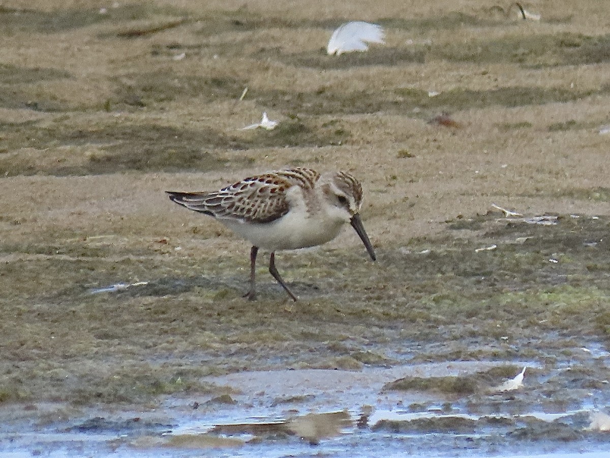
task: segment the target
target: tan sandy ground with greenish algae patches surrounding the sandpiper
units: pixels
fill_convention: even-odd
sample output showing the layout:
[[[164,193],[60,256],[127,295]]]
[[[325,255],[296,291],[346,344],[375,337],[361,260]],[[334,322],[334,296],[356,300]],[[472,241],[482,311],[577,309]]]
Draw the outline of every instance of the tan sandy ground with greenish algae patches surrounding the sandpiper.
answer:
[[[115,418],[87,446],[142,434],[149,442],[136,445],[152,453],[168,424],[179,431],[203,410],[206,424],[224,418],[222,402],[188,415],[175,405],[229,396],[244,416],[256,405],[267,420],[289,417],[265,410],[282,393],[247,401],[251,371],[474,361],[499,369],[473,376],[467,393],[442,377],[400,385],[423,396],[401,412],[435,416],[448,403],[479,420],[494,409],[567,415],[554,429],[511,417],[493,440],[473,439],[487,420],[464,430],[483,453],[519,440],[606,446],[583,431],[609,399],[610,15],[597,1],[522,5],[541,19],[481,1],[2,2],[0,410],[13,419],[3,434],[160,409],[164,426],[134,432]],[[386,44],[326,56],[332,30],[351,19],[382,24]],[[264,111],[276,129],[241,129]],[[250,303],[248,243],[163,191],[287,166],[361,180],[378,262],[346,228],[278,254],[299,302],[261,261]],[[528,393],[481,394],[524,361]],[[349,391],[347,379],[334,383]],[[307,415],[311,398],[299,396],[293,414]],[[346,409],[355,424],[357,404],[326,412]],[[404,435],[440,427],[413,433],[396,421],[337,446],[382,431],[387,450],[403,450]],[[270,453],[269,437],[249,450]],[[129,440],[115,448],[129,454]],[[44,443],[32,450],[63,450]]]

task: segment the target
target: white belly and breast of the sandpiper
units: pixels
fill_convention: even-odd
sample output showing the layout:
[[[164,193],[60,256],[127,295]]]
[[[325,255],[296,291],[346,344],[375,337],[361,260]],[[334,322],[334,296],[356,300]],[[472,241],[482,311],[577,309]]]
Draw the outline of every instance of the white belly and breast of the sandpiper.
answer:
[[[318,216],[318,217],[317,217]],[[237,220],[220,220],[226,227],[267,250],[293,250],[313,247],[334,239],[345,220],[290,211],[270,223],[254,224]]]

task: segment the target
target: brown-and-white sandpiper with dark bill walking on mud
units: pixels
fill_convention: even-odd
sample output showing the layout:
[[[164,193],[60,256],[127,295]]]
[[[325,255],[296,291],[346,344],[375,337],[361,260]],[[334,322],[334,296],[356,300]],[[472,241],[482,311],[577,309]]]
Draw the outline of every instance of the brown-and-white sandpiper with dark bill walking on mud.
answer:
[[[270,250],[269,272],[296,300],[275,267],[275,252],[314,247],[334,239],[349,222],[371,259],[375,250],[360,219],[362,186],[348,173],[295,168],[250,176],[216,192],[166,191],[173,202],[214,217],[252,243],[250,288],[259,248]]]

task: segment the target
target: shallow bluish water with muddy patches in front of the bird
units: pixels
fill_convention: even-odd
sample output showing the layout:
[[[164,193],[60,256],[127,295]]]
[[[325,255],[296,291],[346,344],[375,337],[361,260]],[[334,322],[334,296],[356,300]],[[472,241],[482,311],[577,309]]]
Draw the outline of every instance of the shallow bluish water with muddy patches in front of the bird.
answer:
[[[591,352],[592,353],[592,352]],[[600,364],[592,357],[591,363]],[[362,371],[305,369],[209,377],[239,393],[193,402],[168,397],[147,412],[68,412],[65,406],[5,407],[0,454],[32,456],[608,456],[610,434],[589,431],[590,414],[608,405],[608,382],[569,406],[569,369],[544,376],[533,362],[523,387],[461,396],[389,389],[405,377],[478,377],[498,362],[428,363]],[[508,367],[512,367],[510,365]],[[585,366],[587,366],[585,364]],[[557,382],[559,377],[560,382]],[[550,380],[554,380],[551,382]],[[572,391],[572,394],[570,393]],[[572,408],[574,406],[575,408]],[[476,413],[479,412],[479,413]],[[72,420],[62,420],[62,416]],[[74,415],[79,413],[79,415]],[[33,420],[37,417],[37,420]],[[27,418],[27,419],[26,419]]]

